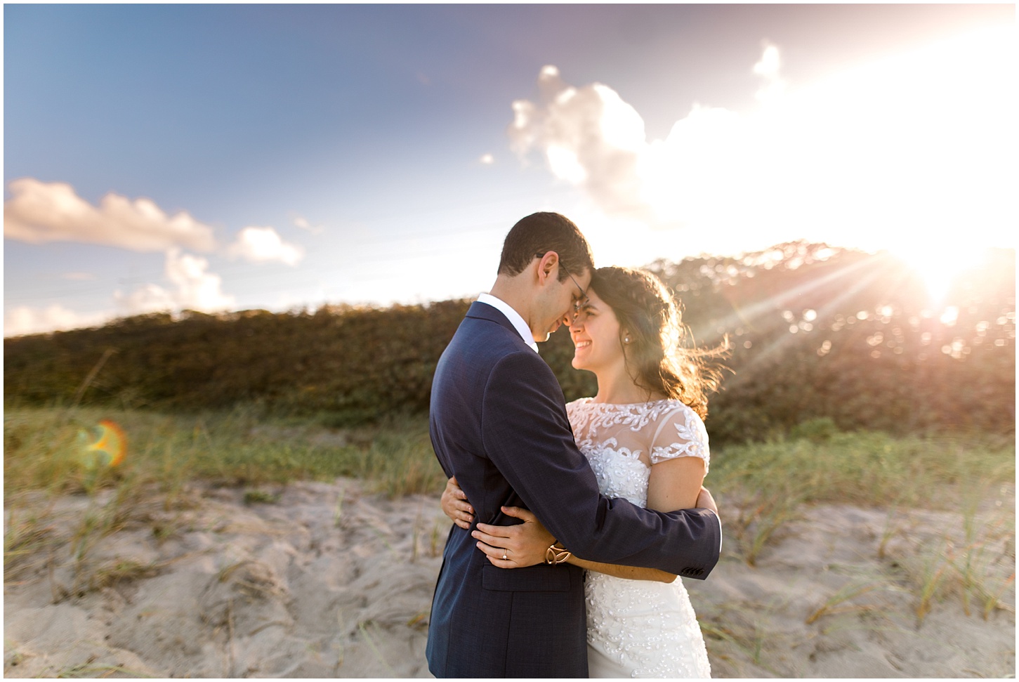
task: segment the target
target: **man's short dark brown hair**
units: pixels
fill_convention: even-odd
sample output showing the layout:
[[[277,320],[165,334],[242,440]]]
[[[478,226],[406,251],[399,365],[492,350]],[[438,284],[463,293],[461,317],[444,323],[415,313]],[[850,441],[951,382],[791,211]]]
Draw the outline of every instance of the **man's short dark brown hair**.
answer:
[[[558,213],[532,213],[521,218],[506,234],[499,258],[499,274],[520,274],[534,260],[549,251],[559,255],[558,279],[567,273],[594,271],[591,247],[573,220]]]

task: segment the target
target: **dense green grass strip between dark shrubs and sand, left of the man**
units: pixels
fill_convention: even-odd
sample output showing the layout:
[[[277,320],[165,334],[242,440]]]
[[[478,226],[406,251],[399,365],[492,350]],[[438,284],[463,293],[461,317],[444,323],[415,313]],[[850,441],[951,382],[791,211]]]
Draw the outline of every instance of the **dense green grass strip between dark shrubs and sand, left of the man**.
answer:
[[[95,467],[83,442],[101,420],[123,430],[127,452],[117,466]],[[4,494],[89,492],[156,485],[172,496],[187,482],[250,489],[249,502],[271,502],[259,486],[291,480],[363,479],[388,496],[437,492],[445,478],[432,454],[427,419],[328,428],[316,420],[267,418],[255,410],[166,415],[90,408],[14,409],[4,413]]]

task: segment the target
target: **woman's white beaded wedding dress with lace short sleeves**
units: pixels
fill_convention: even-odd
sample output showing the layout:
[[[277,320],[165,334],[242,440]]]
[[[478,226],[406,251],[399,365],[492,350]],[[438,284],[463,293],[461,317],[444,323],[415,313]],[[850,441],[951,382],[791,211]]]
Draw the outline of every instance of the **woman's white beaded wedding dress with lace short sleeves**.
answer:
[[[582,398],[567,413],[598,487],[609,497],[646,507],[655,464],[699,457],[707,467],[704,422],[679,401],[605,405]],[[584,589],[590,677],[711,676],[681,578],[666,584],[588,571]]]

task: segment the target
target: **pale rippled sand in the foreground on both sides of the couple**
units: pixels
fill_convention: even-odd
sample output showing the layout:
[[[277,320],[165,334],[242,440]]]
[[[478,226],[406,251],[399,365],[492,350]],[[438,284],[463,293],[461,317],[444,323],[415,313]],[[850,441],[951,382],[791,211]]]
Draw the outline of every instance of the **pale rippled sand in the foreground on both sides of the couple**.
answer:
[[[5,676],[429,677],[448,529],[437,499],[386,501],[345,479],[293,483],[270,504],[243,497],[195,488],[170,509],[136,504],[76,567],[70,538],[108,495],[6,501],[5,530],[34,510],[50,532],[5,566]],[[887,513],[808,514],[756,567],[727,556],[707,581],[686,581],[716,677],[1014,676],[1014,583],[987,620],[951,596],[917,626],[915,589],[897,568],[959,517],[897,517],[903,531],[878,559]],[[1014,542],[1002,552],[1014,570]],[[862,593],[805,623],[847,585]]]

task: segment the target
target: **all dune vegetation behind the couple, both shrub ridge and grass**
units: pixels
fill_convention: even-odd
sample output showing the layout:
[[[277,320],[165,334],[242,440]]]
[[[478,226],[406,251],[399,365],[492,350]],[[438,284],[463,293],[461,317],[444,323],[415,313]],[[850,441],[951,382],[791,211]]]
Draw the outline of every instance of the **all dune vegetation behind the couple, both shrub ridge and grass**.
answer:
[[[905,599],[917,627],[947,599],[983,619],[1014,614],[1015,261],[991,256],[936,306],[891,257],[824,245],[651,266],[682,298],[691,343],[732,347],[706,421],[723,561],[766,564],[813,532],[803,524],[817,509],[881,519],[867,575],[812,602],[804,627],[884,609],[876,594]],[[67,552],[54,604],[159,575],[166,566],[90,558],[125,529],[195,532],[209,490],[252,509],[293,481],[437,496],[428,391],[468,305],[152,314],[6,338],[5,584]],[[567,400],[592,395],[571,356],[561,331],[542,348]],[[103,424],[122,451],[103,444]],[[85,512],[61,515],[67,499]],[[437,561],[438,525],[420,532],[431,539],[415,527],[414,552]],[[696,606],[719,672],[799,670],[725,604]]]

